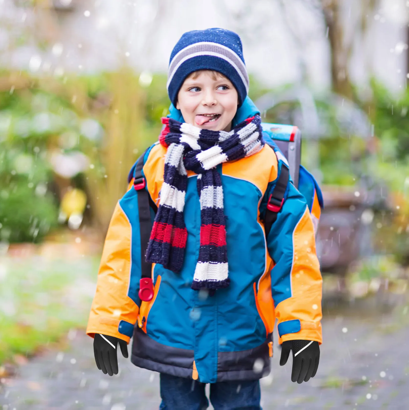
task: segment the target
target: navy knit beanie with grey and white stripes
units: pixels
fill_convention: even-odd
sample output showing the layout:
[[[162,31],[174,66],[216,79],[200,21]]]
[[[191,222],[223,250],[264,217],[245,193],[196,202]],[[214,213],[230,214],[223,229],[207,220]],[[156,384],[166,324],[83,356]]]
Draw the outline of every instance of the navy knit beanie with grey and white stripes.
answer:
[[[215,70],[234,85],[242,105],[249,91],[249,76],[238,34],[221,28],[193,30],[183,34],[169,59],[167,92],[176,107],[185,78],[198,70]]]

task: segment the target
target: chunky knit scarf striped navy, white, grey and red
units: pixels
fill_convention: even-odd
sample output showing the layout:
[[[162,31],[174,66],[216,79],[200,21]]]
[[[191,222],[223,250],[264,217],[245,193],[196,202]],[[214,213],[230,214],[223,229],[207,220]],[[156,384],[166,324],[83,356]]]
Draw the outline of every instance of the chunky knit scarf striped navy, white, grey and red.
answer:
[[[162,264],[174,272],[183,266],[188,236],[183,220],[186,170],[191,170],[198,174],[201,210],[199,260],[192,289],[228,287],[223,189],[216,166],[249,157],[262,149],[260,116],[246,119],[230,132],[201,130],[171,118],[162,118],[162,122],[166,127],[159,141],[167,147],[165,173],[146,261]]]

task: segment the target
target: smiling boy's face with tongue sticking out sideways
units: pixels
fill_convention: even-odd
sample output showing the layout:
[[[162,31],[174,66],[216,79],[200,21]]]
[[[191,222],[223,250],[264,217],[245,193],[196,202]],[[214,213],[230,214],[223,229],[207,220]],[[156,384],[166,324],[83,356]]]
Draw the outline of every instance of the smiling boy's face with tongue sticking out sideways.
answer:
[[[203,70],[185,79],[176,108],[181,110],[185,122],[195,127],[230,131],[237,104],[238,94],[230,80]]]

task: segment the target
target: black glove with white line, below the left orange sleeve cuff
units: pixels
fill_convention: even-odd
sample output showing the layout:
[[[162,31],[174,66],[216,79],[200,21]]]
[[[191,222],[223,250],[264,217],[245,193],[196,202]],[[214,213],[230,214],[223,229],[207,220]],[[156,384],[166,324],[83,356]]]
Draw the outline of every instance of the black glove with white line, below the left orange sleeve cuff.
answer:
[[[128,357],[128,346],[127,342],[118,337],[100,335],[95,333],[94,337],[94,356],[95,363],[99,370],[102,370],[104,374],[118,374],[118,357],[117,357],[117,346],[118,343],[121,347],[122,356],[124,358]]]

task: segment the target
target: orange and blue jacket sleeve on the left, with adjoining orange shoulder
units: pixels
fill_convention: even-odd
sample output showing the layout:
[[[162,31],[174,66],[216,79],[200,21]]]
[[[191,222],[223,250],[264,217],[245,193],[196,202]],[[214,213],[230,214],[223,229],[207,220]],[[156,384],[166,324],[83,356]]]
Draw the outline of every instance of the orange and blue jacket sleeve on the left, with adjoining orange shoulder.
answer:
[[[156,191],[160,189],[155,180],[155,173],[151,172],[158,166],[158,162],[160,156],[146,153],[143,172],[147,179],[147,189],[150,188],[148,192],[151,198],[156,198]],[[156,173],[160,175],[159,171]],[[151,217],[154,218],[153,211]],[[129,343],[140,306],[138,296],[141,278],[140,249],[138,191],[133,189],[132,180],[127,193],[115,206],[106,234],[97,277],[97,289],[86,329],[90,337],[94,337],[95,333],[102,333]]]

